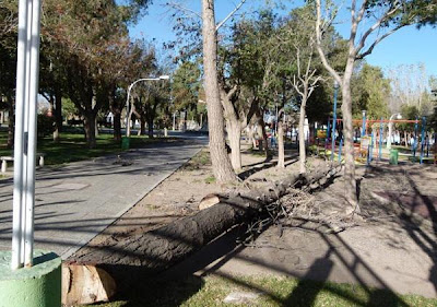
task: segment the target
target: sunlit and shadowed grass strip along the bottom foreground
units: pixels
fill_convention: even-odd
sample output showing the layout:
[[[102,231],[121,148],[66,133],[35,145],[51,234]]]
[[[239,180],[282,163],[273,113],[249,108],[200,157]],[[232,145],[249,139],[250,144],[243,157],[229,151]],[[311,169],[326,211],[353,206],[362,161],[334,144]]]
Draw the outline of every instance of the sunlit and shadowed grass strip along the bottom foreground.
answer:
[[[261,295],[247,305],[224,304],[234,291],[257,292]],[[365,288],[351,284],[299,281],[291,278],[190,278],[180,282],[143,284],[132,288],[132,296],[101,307],[133,306],[437,306],[437,299],[417,295],[397,295],[385,290]]]

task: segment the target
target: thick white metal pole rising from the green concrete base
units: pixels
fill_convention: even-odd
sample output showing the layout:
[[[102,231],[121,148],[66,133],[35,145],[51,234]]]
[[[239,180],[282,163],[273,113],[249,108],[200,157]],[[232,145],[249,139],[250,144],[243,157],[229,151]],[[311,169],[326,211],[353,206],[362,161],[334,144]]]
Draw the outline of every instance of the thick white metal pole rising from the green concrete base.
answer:
[[[31,267],[33,262],[39,22],[40,0],[21,0],[14,141],[13,270],[23,265]]]

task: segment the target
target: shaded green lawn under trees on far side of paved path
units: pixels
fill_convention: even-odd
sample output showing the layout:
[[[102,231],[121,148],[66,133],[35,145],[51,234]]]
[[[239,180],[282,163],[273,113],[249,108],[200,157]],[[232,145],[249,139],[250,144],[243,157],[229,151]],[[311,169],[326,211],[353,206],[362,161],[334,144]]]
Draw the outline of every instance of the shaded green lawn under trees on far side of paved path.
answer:
[[[59,143],[55,143],[50,137],[38,139],[37,152],[46,154],[46,165],[59,165],[122,152],[121,143],[115,141],[111,134],[99,134],[96,141],[97,146],[95,149],[88,149],[83,134],[61,133]],[[157,139],[132,135],[130,139],[130,147],[142,147],[155,141],[157,141]],[[12,150],[7,149],[5,143],[7,133],[0,132],[0,155],[13,155]]]

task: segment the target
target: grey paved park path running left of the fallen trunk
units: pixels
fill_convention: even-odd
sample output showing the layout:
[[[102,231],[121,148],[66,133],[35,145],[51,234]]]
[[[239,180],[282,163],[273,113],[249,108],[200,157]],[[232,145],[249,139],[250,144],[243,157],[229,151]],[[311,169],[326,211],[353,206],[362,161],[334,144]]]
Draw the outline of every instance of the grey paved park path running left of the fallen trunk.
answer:
[[[158,142],[117,155],[37,170],[35,248],[68,258],[206,144]],[[121,162],[121,163],[120,163]],[[0,181],[0,249],[11,248],[12,178]]]

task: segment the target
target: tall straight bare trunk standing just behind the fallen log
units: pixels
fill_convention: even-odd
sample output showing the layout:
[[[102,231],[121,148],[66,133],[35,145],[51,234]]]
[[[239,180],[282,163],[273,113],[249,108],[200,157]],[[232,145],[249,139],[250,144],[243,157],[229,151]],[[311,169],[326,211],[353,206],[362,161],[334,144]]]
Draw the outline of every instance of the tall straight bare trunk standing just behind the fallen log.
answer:
[[[206,96],[210,154],[215,179],[218,182],[236,180],[225,146],[223,107],[217,80],[217,46],[214,16],[214,0],[202,0],[202,36],[204,91]]]

